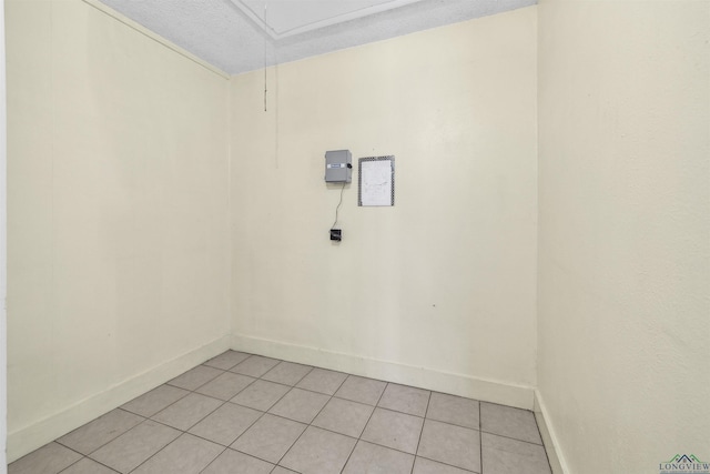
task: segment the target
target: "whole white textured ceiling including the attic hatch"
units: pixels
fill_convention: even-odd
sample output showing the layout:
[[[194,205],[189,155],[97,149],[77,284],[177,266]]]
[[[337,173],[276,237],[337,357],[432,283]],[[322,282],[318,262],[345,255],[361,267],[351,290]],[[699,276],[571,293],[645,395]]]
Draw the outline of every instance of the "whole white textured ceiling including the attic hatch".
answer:
[[[536,0],[101,0],[230,74]]]

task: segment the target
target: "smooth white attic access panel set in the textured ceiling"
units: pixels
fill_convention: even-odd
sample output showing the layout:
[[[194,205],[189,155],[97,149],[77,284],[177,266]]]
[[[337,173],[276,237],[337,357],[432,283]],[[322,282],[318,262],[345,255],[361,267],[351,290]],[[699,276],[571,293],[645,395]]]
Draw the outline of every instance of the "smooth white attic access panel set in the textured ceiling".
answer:
[[[417,1],[420,0],[232,0],[236,8],[274,40]]]

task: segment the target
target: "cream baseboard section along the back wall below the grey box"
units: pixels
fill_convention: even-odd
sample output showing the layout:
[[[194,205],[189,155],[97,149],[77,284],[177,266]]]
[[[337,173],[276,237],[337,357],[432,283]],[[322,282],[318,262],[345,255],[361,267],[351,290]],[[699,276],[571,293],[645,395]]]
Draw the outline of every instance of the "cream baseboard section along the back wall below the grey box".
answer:
[[[531,386],[478,379],[442,372],[435,369],[406,365],[354,354],[324,351],[280,341],[235,334],[232,349],[315,365],[354,375],[379,379],[437,392],[466,396],[484,402],[532,410],[535,391]]]

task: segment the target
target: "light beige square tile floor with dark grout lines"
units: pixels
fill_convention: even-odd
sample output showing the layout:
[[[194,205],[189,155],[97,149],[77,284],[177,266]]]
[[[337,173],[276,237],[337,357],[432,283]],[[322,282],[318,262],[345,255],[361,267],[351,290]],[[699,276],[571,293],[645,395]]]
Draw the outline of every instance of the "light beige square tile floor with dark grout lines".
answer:
[[[549,474],[531,412],[227,351],[10,474]]]

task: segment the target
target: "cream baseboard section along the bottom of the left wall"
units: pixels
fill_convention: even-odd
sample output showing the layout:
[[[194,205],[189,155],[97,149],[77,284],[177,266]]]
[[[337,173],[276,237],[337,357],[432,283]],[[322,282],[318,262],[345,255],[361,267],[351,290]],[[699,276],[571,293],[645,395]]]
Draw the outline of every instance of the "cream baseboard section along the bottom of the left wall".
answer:
[[[231,343],[231,336],[220,337],[142,374],[119,382],[103,392],[80,400],[37,423],[9,433],[7,444],[8,463],[221,354],[230,349]]]

